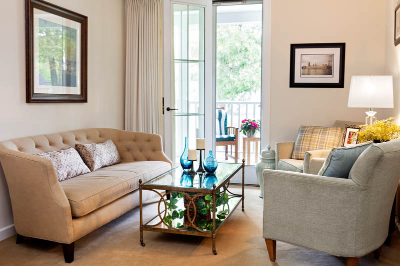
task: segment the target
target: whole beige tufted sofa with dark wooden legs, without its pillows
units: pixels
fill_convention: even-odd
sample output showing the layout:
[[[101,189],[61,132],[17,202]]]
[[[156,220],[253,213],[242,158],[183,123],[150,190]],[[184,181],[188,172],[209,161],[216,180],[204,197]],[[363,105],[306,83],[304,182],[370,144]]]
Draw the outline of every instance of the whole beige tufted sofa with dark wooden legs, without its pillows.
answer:
[[[40,152],[111,139],[121,162],[58,182]],[[65,262],[73,243],[139,205],[138,180],[171,169],[159,135],[90,128],[0,142],[0,162],[11,198],[17,243],[23,236],[62,243]],[[143,191],[143,202],[153,195]]]

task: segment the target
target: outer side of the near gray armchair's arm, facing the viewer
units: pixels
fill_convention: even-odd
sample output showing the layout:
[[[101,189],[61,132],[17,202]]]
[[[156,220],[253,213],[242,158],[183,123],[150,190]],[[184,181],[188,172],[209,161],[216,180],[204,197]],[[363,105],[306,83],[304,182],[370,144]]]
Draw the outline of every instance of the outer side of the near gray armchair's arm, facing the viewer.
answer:
[[[264,170],[263,237],[353,257],[363,192],[351,179]]]

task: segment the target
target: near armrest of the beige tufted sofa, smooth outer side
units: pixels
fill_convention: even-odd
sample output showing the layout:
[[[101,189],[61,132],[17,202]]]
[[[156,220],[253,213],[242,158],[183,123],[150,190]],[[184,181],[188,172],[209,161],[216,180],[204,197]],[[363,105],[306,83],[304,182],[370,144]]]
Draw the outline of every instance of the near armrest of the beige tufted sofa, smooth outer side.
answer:
[[[51,161],[11,149],[0,151],[0,161],[16,232],[59,243],[73,242],[71,209]]]

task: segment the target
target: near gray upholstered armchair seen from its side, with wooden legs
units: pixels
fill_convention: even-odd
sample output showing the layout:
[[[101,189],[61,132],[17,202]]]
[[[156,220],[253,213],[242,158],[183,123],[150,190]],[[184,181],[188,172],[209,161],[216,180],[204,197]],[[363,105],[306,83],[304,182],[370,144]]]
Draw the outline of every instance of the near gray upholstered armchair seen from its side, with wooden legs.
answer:
[[[276,241],[334,256],[347,265],[375,251],[387,237],[400,177],[400,140],[368,147],[349,178],[265,170],[263,238],[275,261]]]

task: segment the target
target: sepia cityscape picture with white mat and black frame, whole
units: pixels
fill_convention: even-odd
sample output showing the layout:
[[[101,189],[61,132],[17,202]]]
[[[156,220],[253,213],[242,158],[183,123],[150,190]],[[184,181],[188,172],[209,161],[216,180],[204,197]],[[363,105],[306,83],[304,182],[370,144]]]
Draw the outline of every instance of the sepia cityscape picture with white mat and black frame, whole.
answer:
[[[345,43],[290,44],[290,88],[343,88]]]

